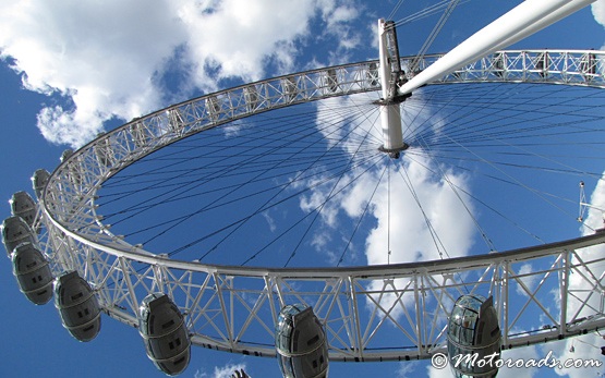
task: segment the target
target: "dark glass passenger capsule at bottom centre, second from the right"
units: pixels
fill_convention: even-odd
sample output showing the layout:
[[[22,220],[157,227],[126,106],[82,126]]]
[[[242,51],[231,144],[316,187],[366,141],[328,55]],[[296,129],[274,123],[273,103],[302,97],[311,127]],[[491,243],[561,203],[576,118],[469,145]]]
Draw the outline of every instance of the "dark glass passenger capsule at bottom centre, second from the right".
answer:
[[[328,344],[324,328],[305,305],[287,305],[275,332],[277,361],[285,378],[328,376]]]

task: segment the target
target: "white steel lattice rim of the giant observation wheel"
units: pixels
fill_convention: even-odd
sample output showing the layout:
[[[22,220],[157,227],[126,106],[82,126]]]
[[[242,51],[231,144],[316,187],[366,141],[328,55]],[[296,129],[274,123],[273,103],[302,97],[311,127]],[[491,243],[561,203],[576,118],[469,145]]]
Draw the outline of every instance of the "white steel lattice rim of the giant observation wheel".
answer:
[[[438,57],[426,56],[420,69]],[[435,84],[604,87],[604,51],[500,51]],[[401,59],[404,70],[412,59]],[[290,303],[313,306],[326,328],[330,358],[340,361],[429,357],[445,345],[451,305],[473,292],[494,295],[505,347],[604,327],[605,258],[590,246],[604,243],[605,233],[439,261],[265,269],[150,254],[112,234],[96,212],[95,196],[102,183],[137,159],[259,112],[378,90],[377,64],[331,66],[203,96],[135,119],[75,151],[52,173],[40,200],[40,239],[53,272],[78,270],[95,288],[104,310],[131,326],[137,324],[143,297],[168,293],[186,315],[194,344],[263,356],[275,356],[275,320]],[[533,270],[524,268],[528,264]]]

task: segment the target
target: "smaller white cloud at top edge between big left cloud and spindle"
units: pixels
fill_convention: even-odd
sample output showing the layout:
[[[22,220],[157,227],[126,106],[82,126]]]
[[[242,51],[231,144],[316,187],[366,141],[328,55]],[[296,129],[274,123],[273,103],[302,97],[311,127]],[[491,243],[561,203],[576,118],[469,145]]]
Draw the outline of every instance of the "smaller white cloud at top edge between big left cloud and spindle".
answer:
[[[282,70],[292,69],[292,44],[310,33],[314,10],[312,0],[225,0],[206,8],[181,2],[176,13],[187,31],[192,59],[204,62],[194,80],[202,87],[226,77],[256,81],[271,58]]]

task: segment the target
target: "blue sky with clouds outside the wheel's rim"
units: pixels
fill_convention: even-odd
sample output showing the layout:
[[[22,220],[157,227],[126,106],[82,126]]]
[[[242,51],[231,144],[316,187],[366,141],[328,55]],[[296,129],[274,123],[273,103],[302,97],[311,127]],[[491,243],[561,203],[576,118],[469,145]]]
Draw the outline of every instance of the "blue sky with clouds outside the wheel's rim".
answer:
[[[429,52],[456,46],[518,2],[491,1],[486,7],[473,0],[460,5]],[[376,58],[373,28],[378,17],[391,13],[396,1],[258,1],[253,5],[245,0],[182,0],[157,1],[153,9],[143,0],[128,4],[2,0],[0,4],[0,198],[7,199],[0,214],[7,218],[10,196],[22,190],[32,193],[29,178],[36,169],[52,171],[63,149],[84,144],[101,130],[241,83]],[[404,2],[394,19],[412,12],[407,7],[420,9],[416,2]],[[586,8],[513,48],[601,49],[605,4],[601,1],[593,10],[594,14]],[[437,19],[401,27],[401,54],[415,53]],[[162,376],[145,356],[135,329],[105,317],[97,339],[76,342],[62,328],[52,304],[37,307],[27,302],[17,290],[9,259],[0,261],[4,288],[0,376]],[[584,346],[576,344],[577,350]],[[590,352],[590,345],[585,347]],[[529,351],[539,357],[545,354],[539,346]],[[245,365],[255,378],[279,376],[274,359],[197,347],[182,376],[223,377],[225,367],[234,365]],[[330,376],[424,376],[426,365],[332,364]]]

